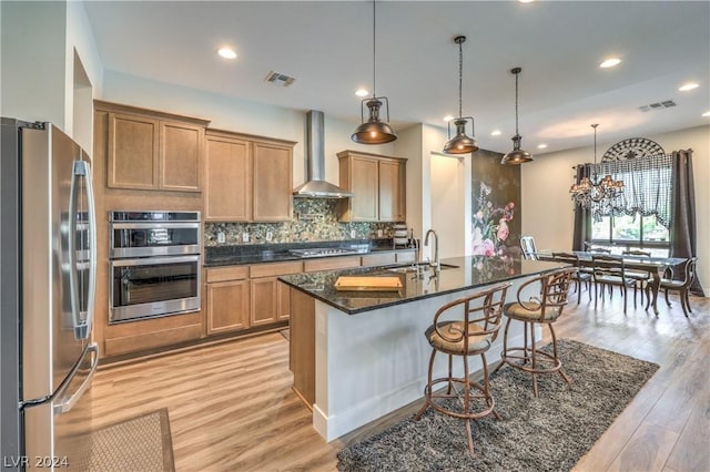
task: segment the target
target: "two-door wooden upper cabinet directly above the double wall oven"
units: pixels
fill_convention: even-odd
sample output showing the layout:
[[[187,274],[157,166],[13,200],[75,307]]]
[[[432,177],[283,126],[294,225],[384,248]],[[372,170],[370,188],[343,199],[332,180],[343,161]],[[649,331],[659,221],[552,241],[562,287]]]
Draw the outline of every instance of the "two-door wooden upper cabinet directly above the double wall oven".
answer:
[[[209,121],[95,101],[108,112],[106,185],[140,191],[202,191]]]

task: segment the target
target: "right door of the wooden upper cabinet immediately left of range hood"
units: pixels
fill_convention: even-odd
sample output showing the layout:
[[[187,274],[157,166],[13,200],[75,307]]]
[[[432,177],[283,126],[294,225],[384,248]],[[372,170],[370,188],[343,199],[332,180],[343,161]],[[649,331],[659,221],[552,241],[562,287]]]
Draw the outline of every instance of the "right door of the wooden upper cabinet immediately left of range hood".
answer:
[[[254,222],[285,222],[292,215],[293,145],[254,142]]]

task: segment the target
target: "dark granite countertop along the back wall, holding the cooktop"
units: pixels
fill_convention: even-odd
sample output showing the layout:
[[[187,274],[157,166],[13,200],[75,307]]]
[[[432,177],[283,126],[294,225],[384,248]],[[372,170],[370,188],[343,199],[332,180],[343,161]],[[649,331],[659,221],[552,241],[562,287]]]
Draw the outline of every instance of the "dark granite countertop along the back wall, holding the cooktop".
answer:
[[[352,239],[310,243],[251,244],[242,246],[206,246],[204,248],[204,266],[220,267],[244,264],[277,263],[285,260],[303,260],[304,258],[291,254],[290,250],[314,247],[341,247],[357,250],[357,253],[344,254],[341,257],[373,253],[388,253],[393,250],[413,250],[412,248],[403,246],[393,246],[392,239]]]

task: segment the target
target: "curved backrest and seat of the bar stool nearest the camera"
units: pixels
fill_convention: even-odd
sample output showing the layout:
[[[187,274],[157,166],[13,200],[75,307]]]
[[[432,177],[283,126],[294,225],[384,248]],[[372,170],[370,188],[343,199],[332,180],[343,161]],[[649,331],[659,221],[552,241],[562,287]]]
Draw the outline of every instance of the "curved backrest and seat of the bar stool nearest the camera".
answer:
[[[460,342],[463,340],[464,352],[468,352],[470,336],[490,335],[490,342],[493,343],[498,337],[506,294],[511,285],[509,283],[497,285],[444,305],[434,315],[434,327],[437,335],[447,342]],[[454,310],[459,306],[463,306],[463,315],[459,315],[460,310]],[[453,312],[460,316],[460,318],[457,318],[456,329],[439,329],[442,321],[452,320],[449,315]],[[446,319],[442,319],[445,316]]]

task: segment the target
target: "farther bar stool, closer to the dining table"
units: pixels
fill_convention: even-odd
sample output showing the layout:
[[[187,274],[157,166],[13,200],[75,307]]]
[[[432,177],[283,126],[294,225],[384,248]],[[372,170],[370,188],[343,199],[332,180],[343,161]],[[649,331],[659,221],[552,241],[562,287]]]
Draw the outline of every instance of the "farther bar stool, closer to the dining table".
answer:
[[[560,317],[562,308],[567,305],[567,291],[577,270],[576,267],[557,269],[528,280],[518,288],[518,301],[506,304],[504,308],[508,321],[506,321],[506,329],[503,336],[501,362],[494,372],[497,372],[505,365],[530,372],[532,374],[532,393],[535,397],[539,397],[537,389],[538,374],[558,372],[565,382],[570,383],[569,377],[562,370],[562,362],[557,356],[557,338],[555,337],[552,324]],[[520,299],[523,290],[537,284],[540,285],[539,296],[530,297],[528,301],[523,301]],[[513,320],[525,324],[523,347],[508,347],[508,329]],[[547,325],[550,329],[550,335],[552,335],[551,355],[536,349],[535,325],[537,324]],[[530,337],[529,346],[528,334]]]

